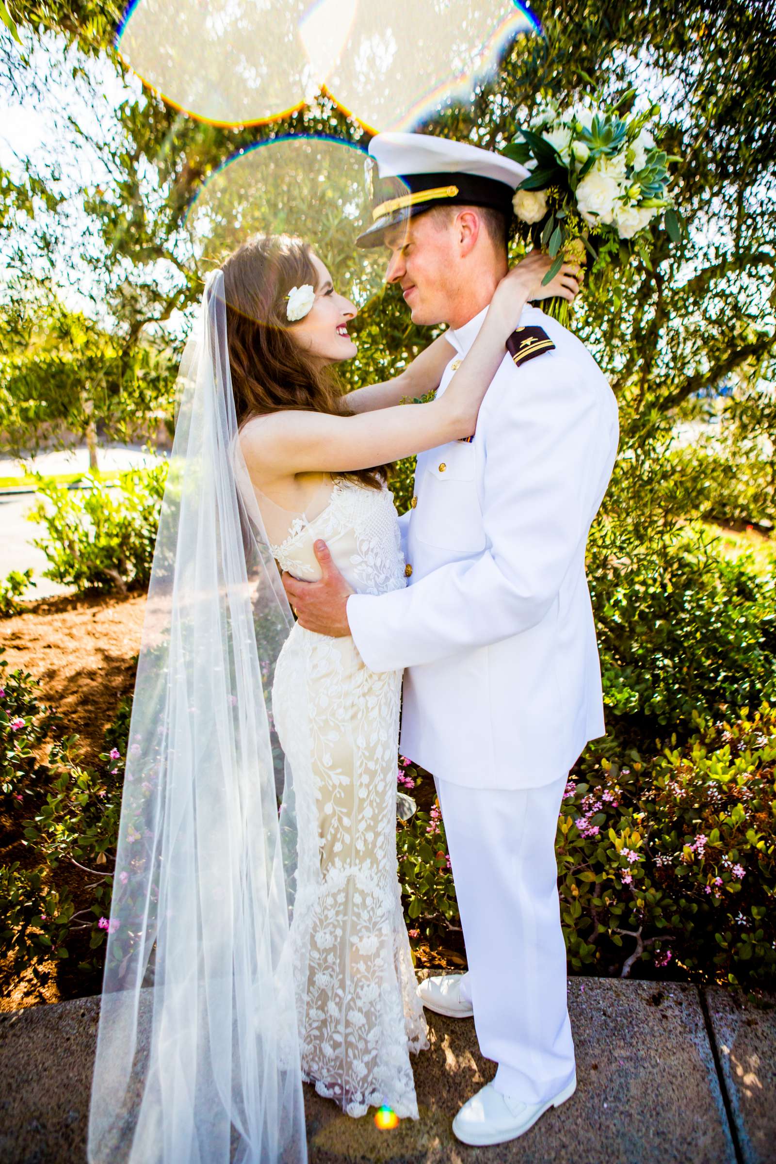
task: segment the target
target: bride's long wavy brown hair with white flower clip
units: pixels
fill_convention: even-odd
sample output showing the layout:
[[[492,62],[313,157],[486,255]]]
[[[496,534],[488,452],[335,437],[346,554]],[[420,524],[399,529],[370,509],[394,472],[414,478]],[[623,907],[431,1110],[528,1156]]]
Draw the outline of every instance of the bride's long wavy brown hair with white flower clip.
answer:
[[[312,247],[289,234],[255,234],[221,264],[227,310],[227,346],[237,427],[255,416],[287,409],[353,417],[334,367],[308,359],[286,318],[286,294],[315,286]],[[333,473],[380,489],[389,466]]]

